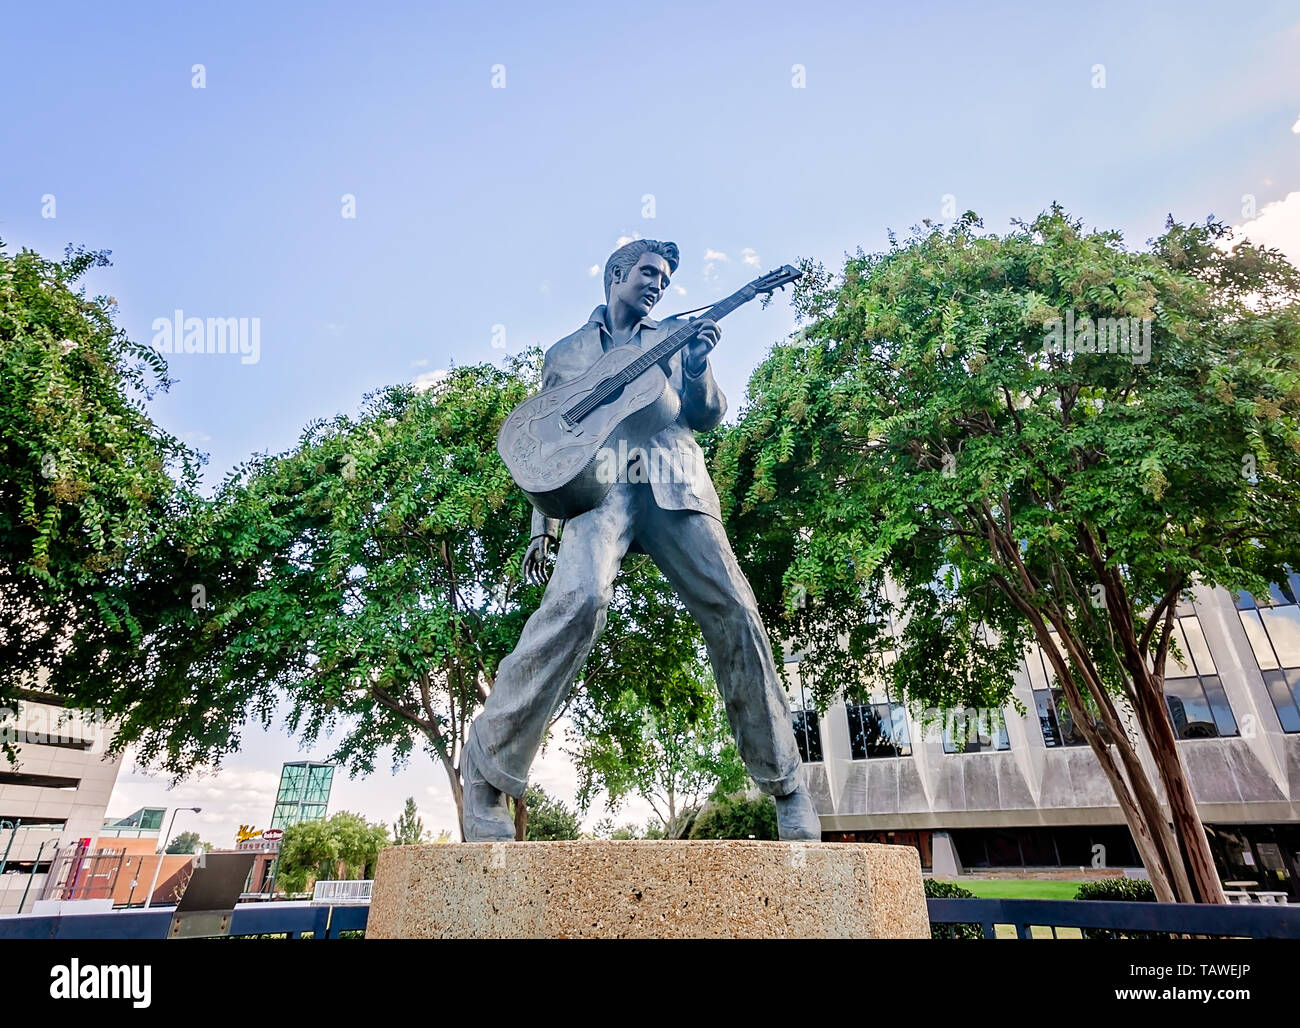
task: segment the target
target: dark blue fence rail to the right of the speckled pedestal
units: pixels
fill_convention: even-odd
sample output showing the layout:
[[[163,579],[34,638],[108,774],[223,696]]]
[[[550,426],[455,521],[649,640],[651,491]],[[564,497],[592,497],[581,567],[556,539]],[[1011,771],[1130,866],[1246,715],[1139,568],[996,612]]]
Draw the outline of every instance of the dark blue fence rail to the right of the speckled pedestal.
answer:
[[[1238,906],[1206,903],[1132,903],[1106,899],[927,899],[932,927],[949,934],[978,924],[984,938],[994,925],[1010,924],[1019,938],[1031,928],[1093,929],[1088,934],[1160,932],[1232,938],[1300,938],[1300,905]]]

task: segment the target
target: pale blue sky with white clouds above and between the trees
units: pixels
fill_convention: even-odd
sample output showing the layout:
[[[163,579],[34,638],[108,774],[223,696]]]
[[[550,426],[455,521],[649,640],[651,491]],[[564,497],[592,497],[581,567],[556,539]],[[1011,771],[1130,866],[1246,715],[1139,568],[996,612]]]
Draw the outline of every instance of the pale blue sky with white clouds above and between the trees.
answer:
[[[368,390],[572,331],[621,237],[681,246],[660,315],[881,248],[949,196],[994,231],[1052,201],[1132,244],[1214,213],[1300,255],[1294,4],[294,6],[0,14],[5,246],[112,250],[90,289],[138,339],[176,309],[260,318],[255,364],[174,355],[152,408],[209,483]],[[733,412],[792,326],[777,305],[723,325]],[[254,733],[207,785],[124,769],[112,812],[212,797],[200,827],[226,841],[303,756]],[[571,790],[554,754],[541,777]],[[432,763],[341,780],[333,806],[391,820],[407,794],[451,825]]]

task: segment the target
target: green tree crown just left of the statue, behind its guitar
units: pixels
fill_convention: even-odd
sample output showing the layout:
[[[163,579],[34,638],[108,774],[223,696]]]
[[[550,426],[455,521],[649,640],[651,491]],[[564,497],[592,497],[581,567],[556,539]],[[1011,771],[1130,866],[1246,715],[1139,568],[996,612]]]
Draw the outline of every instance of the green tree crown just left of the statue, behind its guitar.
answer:
[[[309,425],[255,456],[183,521],[182,567],[207,606],[150,642],[156,676],[103,695],[117,745],[181,776],[239,745],[285,694],[304,742],[369,773],[417,746],[448,775],[476,707],[538,590],[519,578],[528,503],[494,450],[528,392],[517,370],[454,369],[426,392],[394,386],[359,417]]]

